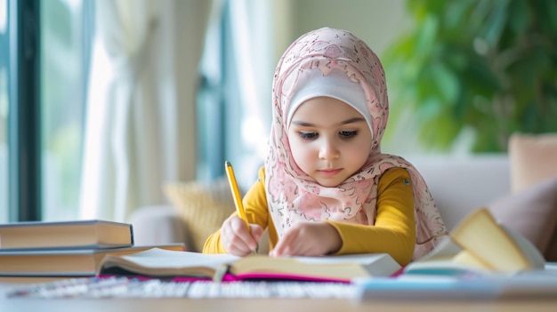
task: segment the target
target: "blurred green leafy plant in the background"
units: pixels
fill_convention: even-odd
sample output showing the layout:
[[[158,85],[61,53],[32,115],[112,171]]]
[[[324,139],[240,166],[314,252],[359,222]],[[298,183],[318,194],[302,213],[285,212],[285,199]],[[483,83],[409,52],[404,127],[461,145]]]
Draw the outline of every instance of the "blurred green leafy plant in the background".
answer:
[[[438,151],[464,129],[473,152],[505,151],[513,132],[557,132],[557,2],[407,4],[414,28],[383,56],[391,124],[410,112]]]

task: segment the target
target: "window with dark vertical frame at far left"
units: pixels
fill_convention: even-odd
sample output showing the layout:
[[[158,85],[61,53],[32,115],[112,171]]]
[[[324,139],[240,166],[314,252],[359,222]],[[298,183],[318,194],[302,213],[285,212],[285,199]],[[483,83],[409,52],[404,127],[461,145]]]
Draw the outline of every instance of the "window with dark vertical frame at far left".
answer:
[[[0,222],[77,219],[93,6],[0,0]]]

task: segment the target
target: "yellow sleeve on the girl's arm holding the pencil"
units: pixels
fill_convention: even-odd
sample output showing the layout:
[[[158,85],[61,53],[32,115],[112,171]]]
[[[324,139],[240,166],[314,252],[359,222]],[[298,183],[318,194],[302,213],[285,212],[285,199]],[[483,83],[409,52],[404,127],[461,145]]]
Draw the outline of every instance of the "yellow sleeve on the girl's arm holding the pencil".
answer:
[[[242,203],[246,209],[246,216],[249,223],[258,224],[262,228],[267,228],[270,223],[270,238],[275,237],[277,232],[270,222],[269,209],[267,209],[267,196],[265,195],[265,173],[263,167],[259,170],[258,179],[243,197]],[[238,214],[233,212],[233,215]],[[272,231],[271,231],[272,229]],[[221,244],[221,229],[219,228],[206,240],[203,246],[203,253],[226,253],[226,248]]]

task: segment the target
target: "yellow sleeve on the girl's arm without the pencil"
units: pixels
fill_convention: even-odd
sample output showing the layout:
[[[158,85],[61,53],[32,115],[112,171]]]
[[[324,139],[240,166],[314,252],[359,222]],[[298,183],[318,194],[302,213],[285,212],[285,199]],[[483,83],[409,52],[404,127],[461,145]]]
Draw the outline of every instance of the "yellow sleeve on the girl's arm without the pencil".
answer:
[[[383,173],[377,186],[377,213],[373,226],[327,220],[343,245],[336,253],[387,252],[400,265],[412,260],[416,244],[412,180],[406,169]]]

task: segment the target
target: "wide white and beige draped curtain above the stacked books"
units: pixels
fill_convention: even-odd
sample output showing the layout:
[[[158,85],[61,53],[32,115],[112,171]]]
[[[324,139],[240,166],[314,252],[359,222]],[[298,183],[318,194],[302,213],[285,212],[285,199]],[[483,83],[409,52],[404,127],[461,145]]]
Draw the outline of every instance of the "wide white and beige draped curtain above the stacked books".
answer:
[[[196,172],[195,90],[211,1],[97,0],[80,212],[125,221]]]

